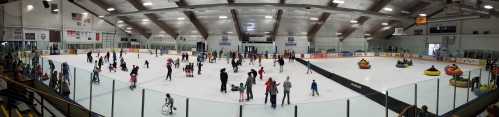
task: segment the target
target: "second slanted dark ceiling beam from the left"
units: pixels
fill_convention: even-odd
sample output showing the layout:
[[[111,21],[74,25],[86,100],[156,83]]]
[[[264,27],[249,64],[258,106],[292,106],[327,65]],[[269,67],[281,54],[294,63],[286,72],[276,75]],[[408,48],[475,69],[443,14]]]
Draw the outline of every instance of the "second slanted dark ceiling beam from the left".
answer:
[[[147,10],[148,8],[142,5],[142,0],[127,0],[128,3],[132,4],[133,7],[137,10]],[[156,26],[161,28],[161,30],[165,31],[168,35],[170,35],[173,39],[177,39],[178,33],[175,28],[169,26],[168,24],[159,20],[159,16],[153,13],[144,14],[147,19],[151,20]]]

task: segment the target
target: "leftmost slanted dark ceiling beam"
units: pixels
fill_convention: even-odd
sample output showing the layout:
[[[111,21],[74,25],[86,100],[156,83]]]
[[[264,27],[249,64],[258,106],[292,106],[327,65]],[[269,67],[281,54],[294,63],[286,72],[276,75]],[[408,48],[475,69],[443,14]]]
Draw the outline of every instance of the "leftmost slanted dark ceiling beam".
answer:
[[[105,11],[107,11],[108,8],[111,8],[110,5],[104,3],[102,0],[90,0],[92,3],[96,4],[97,6],[99,6],[100,8],[104,9]],[[118,11],[118,9],[114,10],[114,11],[111,11],[109,12],[110,14],[118,14],[120,13]],[[131,22],[128,18],[126,18],[125,16],[119,16],[118,19],[122,20],[123,22],[125,22],[125,24],[127,24],[128,26],[131,26],[134,30],[136,30],[137,32],[139,32],[140,34],[142,34],[145,38],[150,38],[151,37],[151,34],[150,33],[147,33],[146,29],[140,27],[139,25]]]

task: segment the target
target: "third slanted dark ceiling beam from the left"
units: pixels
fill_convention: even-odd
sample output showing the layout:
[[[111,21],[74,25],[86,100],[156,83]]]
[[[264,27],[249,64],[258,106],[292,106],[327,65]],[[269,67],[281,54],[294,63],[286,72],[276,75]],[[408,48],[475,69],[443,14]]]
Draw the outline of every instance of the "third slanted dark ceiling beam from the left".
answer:
[[[177,4],[177,6],[179,6],[179,7],[188,7],[189,6],[189,4],[187,4],[187,2],[185,2],[185,0],[176,1],[175,4]],[[199,34],[201,34],[201,36],[205,40],[208,39],[208,31],[203,26],[201,21],[199,21],[199,19],[196,17],[196,14],[194,13],[194,11],[184,11],[184,14],[185,14],[185,16],[187,16],[189,21],[191,21],[191,23],[194,25],[194,27],[196,27]]]

